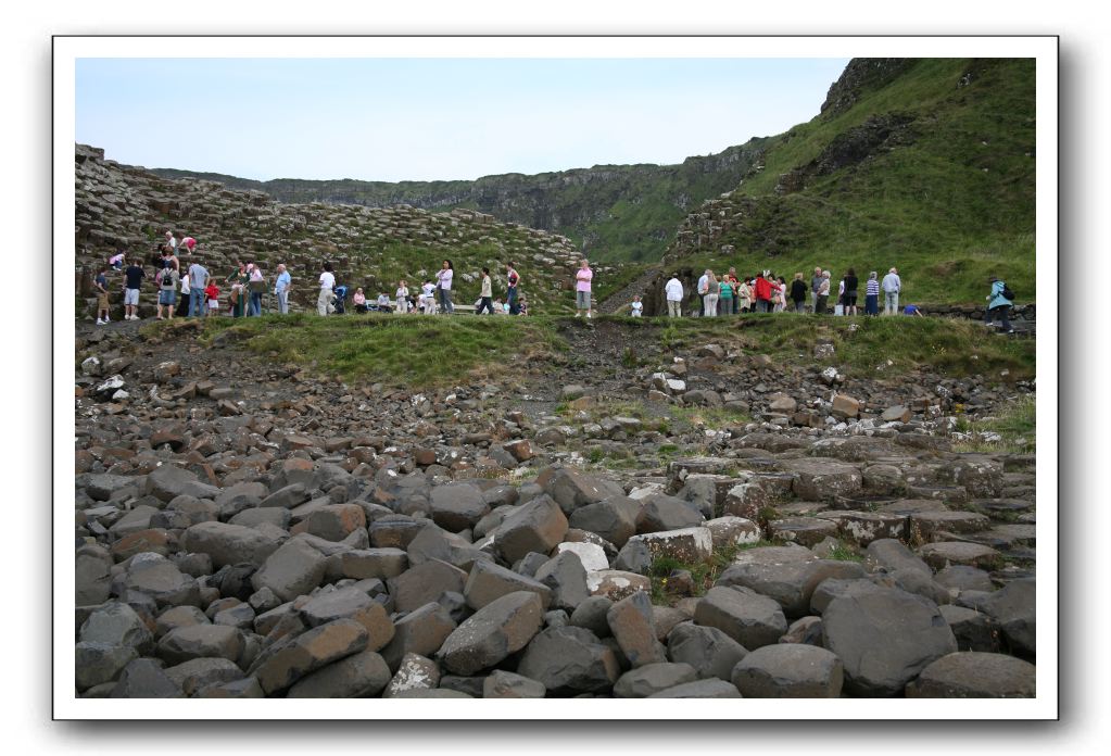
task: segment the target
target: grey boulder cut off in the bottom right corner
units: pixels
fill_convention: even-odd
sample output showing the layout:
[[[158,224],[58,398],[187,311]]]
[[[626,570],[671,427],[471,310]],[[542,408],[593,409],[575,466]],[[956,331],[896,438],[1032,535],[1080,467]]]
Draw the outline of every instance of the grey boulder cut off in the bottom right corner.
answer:
[[[958,651],[930,664],[908,698],[1033,698],[1038,669],[1004,654]]]

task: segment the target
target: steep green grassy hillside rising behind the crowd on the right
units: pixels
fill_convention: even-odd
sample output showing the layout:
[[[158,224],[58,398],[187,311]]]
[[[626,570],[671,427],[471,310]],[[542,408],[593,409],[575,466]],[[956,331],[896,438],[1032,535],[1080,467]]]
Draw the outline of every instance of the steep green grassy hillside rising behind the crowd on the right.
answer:
[[[834,279],[897,266],[904,301],[980,302],[998,275],[1032,300],[1033,61],[893,68],[878,84],[835,84],[840,107],[769,141],[763,169],[689,216],[667,260],[808,279],[817,265]]]

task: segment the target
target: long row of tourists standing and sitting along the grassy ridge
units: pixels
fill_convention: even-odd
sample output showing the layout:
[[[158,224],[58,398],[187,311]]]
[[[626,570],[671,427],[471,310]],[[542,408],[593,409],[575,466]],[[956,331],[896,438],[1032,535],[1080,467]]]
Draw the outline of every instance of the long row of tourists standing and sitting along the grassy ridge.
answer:
[[[187,317],[212,317],[221,311],[220,286],[227,289],[224,307],[232,317],[257,317],[262,315],[262,300],[271,290],[262,268],[253,260],[242,260],[236,263],[231,272],[222,280],[212,276],[200,260],[194,259],[182,271],[179,250],[192,253],[197,240],[184,237],[180,241],[171,231],[166,232],[166,241],[159,245],[158,251],[150,262],[154,268],[153,284],[158,291],[157,319],[172,319],[176,315]],[[98,295],[97,325],[109,322],[109,282],[110,270],[122,272],[124,320],[139,319],[139,292],[142,282],[148,278],[143,260],[139,257],[127,258],[119,252],[109,258],[108,263],[97,271],[93,285]],[[480,276],[479,298],[474,301],[476,315],[528,315],[528,301],[523,295],[518,295],[521,276],[512,262],[506,263],[504,288],[506,297],[494,299],[493,281],[489,268],[482,268]],[[574,272],[575,317],[593,317],[594,273],[590,262],[579,261]],[[985,322],[989,326],[1000,321],[1003,330],[1013,332],[1008,314],[1014,302],[1014,295],[1007,284],[995,277],[989,281],[991,294],[988,295]],[[380,291],[377,298],[367,296],[362,287],[357,287],[351,296],[351,304],[357,314],[383,312],[398,315],[453,315],[456,304],[454,268],[450,259],[443,260],[436,275],[426,278],[420,286],[410,287],[408,280],[398,281],[391,297],[387,291]],[[292,277],[284,265],[279,263],[272,281],[273,295],[278,312],[289,312],[289,295],[292,290]],[[317,314],[329,316],[347,312],[347,298],[350,287],[336,278],[331,262],[324,262],[318,279]],[[500,287],[499,287],[500,288]],[[712,269],[707,269],[698,279],[695,290],[698,306],[690,315],[705,318],[741,315],[745,312],[812,312],[818,315],[860,314],[861,280],[853,268],[845,270],[837,285],[833,296],[832,276],[829,270],[814,268],[808,281],[801,272],[794,273],[788,282],[783,276],[775,276],[771,270],[763,270],[753,276],[738,276],[735,268],[719,277]],[[902,291],[902,279],[895,268],[888,270],[881,279],[877,271],[871,271],[863,281],[863,314],[880,315],[882,304],[883,315],[899,315],[899,296]],[[683,306],[688,292],[677,273],[663,287],[664,299],[668,302],[668,317],[678,318],[683,315]],[[809,304],[808,304],[809,301]],[[832,308],[830,302],[834,302]],[[644,305],[640,296],[634,296],[627,305],[632,317],[642,317]],[[467,309],[471,309],[469,306]],[[922,317],[923,312],[917,305],[905,305],[902,315]]]

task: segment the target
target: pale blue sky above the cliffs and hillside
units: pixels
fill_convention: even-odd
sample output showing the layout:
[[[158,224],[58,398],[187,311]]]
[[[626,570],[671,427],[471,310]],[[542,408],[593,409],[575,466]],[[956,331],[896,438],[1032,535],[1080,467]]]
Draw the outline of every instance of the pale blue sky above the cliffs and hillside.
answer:
[[[839,59],[83,58],[77,141],[251,179],[674,163],[818,115]]]

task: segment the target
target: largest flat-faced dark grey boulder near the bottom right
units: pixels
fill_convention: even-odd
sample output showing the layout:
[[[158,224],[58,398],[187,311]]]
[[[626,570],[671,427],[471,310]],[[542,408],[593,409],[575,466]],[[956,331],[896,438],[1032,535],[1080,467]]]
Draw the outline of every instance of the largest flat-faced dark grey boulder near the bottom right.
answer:
[[[902,694],[928,664],[957,650],[938,606],[897,588],[831,601],[822,645],[844,664],[845,689],[873,697]]]

